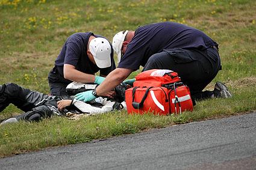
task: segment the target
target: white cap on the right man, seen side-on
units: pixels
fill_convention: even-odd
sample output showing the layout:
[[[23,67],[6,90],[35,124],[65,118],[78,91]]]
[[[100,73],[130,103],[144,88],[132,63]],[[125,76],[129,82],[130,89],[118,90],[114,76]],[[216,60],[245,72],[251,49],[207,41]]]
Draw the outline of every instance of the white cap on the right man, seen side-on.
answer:
[[[122,48],[123,41],[125,40],[125,36],[127,33],[128,33],[128,30],[120,31],[113,37],[112,46],[113,46],[114,52],[117,53],[117,63],[120,62],[121,53],[122,53],[121,48]]]

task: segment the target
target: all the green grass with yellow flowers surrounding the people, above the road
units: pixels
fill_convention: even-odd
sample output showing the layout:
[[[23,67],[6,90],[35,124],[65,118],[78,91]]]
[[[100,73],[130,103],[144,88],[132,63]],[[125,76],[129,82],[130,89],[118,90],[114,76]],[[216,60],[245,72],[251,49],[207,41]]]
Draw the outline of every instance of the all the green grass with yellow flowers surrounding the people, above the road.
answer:
[[[198,102],[192,113],[167,117],[122,111],[78,121],[53,117],[7,124],[0,126],[0,157],[255,111],[255,10],[256,2],[249,0],[0,0],[0,83],[14,82],[48,94],[48,72],[69,35],[92,31],[111,40],[123,29],[170,20],[201,29],[220,44],[223,70],[207,88],[222,81],[234,94],[231,99]],[[20,113],[10,105],[0,120]]]

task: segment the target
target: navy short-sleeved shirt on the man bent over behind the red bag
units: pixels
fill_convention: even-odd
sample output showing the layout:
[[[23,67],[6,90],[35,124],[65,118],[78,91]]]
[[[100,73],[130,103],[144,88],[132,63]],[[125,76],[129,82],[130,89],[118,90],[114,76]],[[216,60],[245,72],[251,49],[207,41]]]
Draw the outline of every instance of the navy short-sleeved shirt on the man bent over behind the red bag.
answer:
[[[138,70],[149,57],[163,49],[207,49],[217,46],[204,32],[175,22],[152,23],[140,26],[128,44],[118,68]]]

